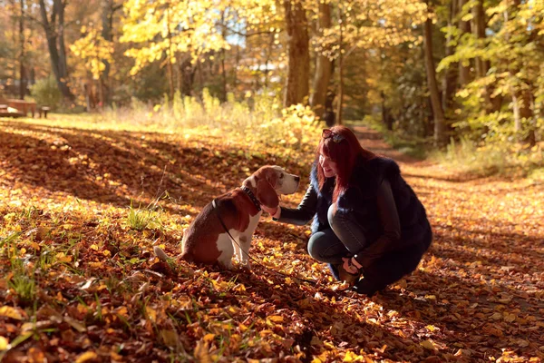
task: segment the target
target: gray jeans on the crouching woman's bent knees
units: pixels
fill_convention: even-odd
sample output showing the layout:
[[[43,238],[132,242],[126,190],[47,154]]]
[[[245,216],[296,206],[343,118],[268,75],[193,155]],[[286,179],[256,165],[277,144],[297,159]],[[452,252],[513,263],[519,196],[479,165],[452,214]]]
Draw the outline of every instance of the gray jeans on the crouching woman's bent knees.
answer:
[[[314,260],[337,264],[364,249],[363,227],[352,213],[336,211],[335,204],[328,209],[331,229],[318,231],[308,241],[308,253]]]

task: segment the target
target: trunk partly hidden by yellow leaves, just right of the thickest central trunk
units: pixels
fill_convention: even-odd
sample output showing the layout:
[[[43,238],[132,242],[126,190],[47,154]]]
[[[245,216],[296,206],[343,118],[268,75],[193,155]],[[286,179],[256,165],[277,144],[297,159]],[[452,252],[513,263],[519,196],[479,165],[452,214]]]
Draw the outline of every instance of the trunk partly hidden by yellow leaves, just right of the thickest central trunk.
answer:
[[[322,35],[324,29],[331,27],[331,5],[319,4],[319,19],[317,21],[317,32]],[[317,116],[322,117],[325,112],[325,99],[328,84],[333,74],[333,62],[321,53],[317,54],[316,74],[314,75],[313,93],[310,96],[310,105]]]

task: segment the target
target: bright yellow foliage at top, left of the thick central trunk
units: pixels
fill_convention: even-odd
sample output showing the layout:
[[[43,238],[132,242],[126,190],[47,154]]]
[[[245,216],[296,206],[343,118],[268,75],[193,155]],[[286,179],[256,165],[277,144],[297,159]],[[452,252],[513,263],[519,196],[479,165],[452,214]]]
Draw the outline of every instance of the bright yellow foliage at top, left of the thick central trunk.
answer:
[[[271,0],[128,0],[123,6],[121,42],[131,43],[125,54],[135,60],[132,75],[160,60],[177,64],[189,59],[194,64],[205,56],[212,58],[214,52],[230,49],[227,28],[277,21]]]

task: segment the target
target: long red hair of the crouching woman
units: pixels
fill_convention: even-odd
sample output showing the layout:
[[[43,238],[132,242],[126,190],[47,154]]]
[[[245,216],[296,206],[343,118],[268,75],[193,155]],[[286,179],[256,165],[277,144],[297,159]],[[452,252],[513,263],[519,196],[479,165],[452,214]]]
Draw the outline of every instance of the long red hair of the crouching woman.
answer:
[[[333,193],[333,202],[347,189],[355,168],[357,159],[364,161],[374,159],[374,152],[364,149],[357,136],[345,126],[334,126],[330,128],[327,136],[321,137],[316,149],[317,181],[319,189],[325,184],[325,173],[319,164],[319,155],[324,154],[336,164],[336,185]]]

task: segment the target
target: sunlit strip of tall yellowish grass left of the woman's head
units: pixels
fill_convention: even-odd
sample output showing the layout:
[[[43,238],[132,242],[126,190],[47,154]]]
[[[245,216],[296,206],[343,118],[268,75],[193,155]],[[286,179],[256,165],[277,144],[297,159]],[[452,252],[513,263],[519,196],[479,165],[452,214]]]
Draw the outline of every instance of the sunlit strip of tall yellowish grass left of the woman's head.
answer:
[[[97,123],[119,123],[153,127],[165,132],[199,130],[228,140],[265,146],[286,145],[291,150],[313,148],[319,140],[320,122],[301,104],[281,108],[276,97],[255,94],[237,101],[232,93],[220,103],[204,89],[199,98],[175,93],[161,103],[133,99],[129,107],[106,110],[95,115]]]

